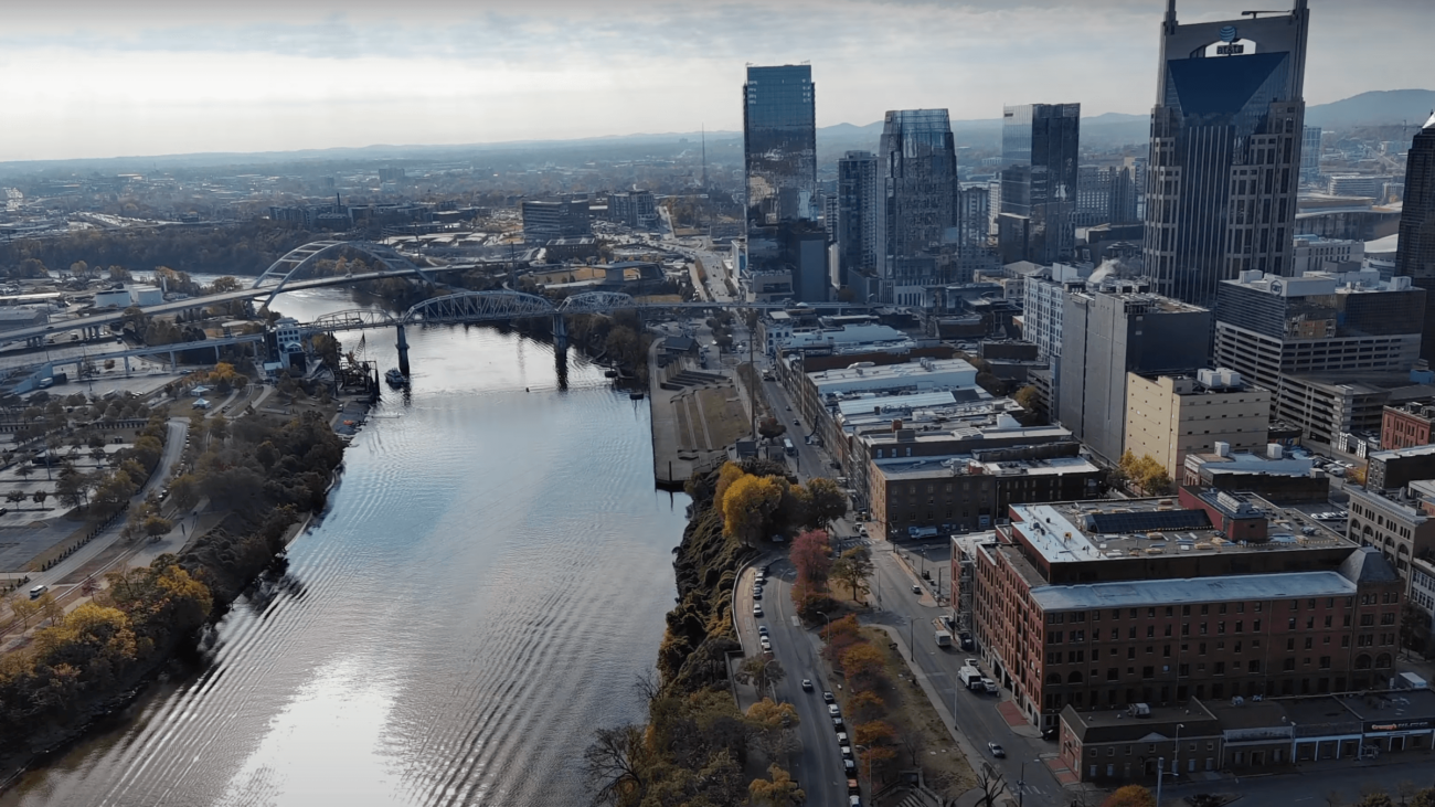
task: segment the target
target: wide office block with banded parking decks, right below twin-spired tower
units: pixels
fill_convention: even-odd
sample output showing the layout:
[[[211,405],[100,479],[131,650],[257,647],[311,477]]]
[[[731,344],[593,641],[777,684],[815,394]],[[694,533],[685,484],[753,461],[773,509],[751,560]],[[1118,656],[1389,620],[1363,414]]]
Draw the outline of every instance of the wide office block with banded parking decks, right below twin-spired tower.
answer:
[[[1220,283],[1214,360],[1274,391],[1274,415],[1317,442],[1379,432],[1393,376],[1418,358],[1425,299],[1370,270],[1241,273]]]

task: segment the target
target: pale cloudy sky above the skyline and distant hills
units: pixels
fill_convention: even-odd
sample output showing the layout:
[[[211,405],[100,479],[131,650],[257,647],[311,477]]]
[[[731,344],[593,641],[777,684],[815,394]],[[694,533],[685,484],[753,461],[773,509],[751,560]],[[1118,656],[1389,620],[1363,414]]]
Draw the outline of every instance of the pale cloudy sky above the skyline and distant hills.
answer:
[[[1178,0],[1181,22],[1292,0]],[[1435,0],[1310,0],[1306,102],[1435,86]],[[1165,0],[0,0],[0,161],[738,131],[809,62],[819,126],[1147,113]]]

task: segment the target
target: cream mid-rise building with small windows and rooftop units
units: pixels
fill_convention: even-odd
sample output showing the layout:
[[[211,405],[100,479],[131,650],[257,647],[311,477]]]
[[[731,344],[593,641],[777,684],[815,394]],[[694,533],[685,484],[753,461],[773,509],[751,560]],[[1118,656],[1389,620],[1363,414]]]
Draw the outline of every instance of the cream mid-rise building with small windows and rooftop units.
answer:
[[[1233,370],[1128,373],[1126,451],[1151,457],[1180,480],[1185,455],[1264,449],[1270,425],[1269,389],[1246,383]]]

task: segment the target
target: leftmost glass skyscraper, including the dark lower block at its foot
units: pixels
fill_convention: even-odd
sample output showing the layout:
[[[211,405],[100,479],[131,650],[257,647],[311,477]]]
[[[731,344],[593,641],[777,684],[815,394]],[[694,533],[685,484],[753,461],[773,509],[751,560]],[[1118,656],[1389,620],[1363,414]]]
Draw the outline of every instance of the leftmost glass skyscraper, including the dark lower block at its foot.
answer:
[[[742,85],[745,277],[789,273],[794,297],[806,302],[827,300],[831,289],[827,233],[817,224],[815,92],[808,65],[748,67]]]

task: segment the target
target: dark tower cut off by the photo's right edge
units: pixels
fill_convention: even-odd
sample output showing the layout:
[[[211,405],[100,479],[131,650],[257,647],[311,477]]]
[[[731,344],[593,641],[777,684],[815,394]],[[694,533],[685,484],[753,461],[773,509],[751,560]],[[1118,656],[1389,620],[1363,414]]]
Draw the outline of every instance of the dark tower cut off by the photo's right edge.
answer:
[[[1435,360],[1435,113],[1411,142],[1405,162],[1405,204],[1395,273],[1429,289],[1425,297],[1425,335],[1421,356]]]

